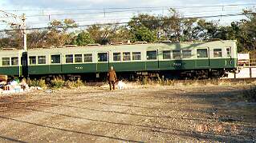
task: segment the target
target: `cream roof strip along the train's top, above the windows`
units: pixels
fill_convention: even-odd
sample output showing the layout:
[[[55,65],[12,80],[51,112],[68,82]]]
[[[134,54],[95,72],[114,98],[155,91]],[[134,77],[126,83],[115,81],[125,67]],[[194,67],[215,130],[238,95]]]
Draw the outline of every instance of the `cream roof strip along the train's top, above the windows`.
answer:
[[[28,52],[35,53],[35,52],[49,52],[51,53],[59,53],[59,52],[70,52],[70,51],[84,51],[87,50],[88,52],[91,51],[112,51],[112,50],[156,50],[165,48],[171,50],[179,50],[179,49],[192,49],[195,46],[197,47],[230,47],[235,46],[235,40],[223,40],[223,41],[213,41],[213,42],[165,42],[165,43],[148,43],[148,44],[129,44],[129,45],[107,45],[107,46],[75,46],[75,47],[59,47],[59,48],[36,48],[36,49],[29,49]],[[2,50],[0,53],[12,53],[18,50]]]

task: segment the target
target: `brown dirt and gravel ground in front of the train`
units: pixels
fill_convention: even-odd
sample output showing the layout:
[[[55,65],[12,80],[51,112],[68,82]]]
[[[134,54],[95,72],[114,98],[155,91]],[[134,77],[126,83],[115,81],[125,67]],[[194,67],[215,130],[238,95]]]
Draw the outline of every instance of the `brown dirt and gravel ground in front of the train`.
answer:
[[[0,95],[0,142],[256,141],[243,87],[107,86]]]

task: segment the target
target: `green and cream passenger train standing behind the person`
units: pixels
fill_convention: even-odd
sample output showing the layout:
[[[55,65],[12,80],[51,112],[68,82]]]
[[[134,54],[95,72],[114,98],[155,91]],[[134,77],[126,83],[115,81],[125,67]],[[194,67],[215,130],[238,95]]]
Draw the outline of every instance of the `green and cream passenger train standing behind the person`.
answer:
[[[0,74],[17,77],[223,77],[237,69],[236,41],[76,46],[0,51]]]

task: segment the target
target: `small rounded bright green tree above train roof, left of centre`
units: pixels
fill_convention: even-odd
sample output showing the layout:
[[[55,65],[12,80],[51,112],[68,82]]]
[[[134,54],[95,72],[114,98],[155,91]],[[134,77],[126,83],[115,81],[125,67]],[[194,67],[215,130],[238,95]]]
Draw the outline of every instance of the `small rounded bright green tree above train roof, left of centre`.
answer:
[[[91,38],[90,34],[83,31],[78,34],[73,43],[78,46],[87,46],[87,44],[93,44],[95,41]]]

